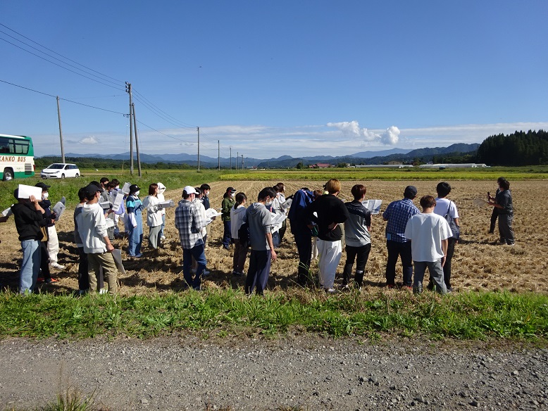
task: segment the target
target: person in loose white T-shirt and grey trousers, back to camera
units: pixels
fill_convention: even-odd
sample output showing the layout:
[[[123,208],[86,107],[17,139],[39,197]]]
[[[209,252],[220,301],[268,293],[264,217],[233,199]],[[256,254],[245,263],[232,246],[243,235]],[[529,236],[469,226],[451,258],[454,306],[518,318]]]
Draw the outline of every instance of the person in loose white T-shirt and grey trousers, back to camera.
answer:
[[[444,217],[434,214],[435,205],[434,197],[423,196],[423,212],[413,215],[405,227],[405,237],[411,240],[411,257],[415,266],[413,293],[423,292],[426,267],[436,291],[441,294],[447,293],[443,280],[443,266],[447,258],[447,239],[452,236],[452,232]]]

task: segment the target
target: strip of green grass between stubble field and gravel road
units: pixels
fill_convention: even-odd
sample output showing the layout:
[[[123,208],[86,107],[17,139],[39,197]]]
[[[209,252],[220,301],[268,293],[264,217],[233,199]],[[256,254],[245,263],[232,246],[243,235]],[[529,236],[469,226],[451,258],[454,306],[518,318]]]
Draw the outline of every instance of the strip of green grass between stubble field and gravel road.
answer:
[[[240,290],[164,296],[0,296],[0,338],[150,338],[185,331],[218,336],[282,335],[292,330],[335,337],[379,333],[431,339],[546,341],[548,296],[524,293],[426,292],[377,295],[270,293],[247,298]]]

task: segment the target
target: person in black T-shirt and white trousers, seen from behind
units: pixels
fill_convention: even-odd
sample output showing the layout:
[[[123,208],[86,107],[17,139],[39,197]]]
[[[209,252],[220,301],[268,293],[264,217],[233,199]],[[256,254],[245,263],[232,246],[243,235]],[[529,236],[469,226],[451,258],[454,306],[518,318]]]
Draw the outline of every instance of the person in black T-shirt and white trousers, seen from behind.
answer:
[[[318,224],[318,270],[320,286],[327,293],[335,293],[335,274],[342,255],[342,229],[340,225],[347,221],[349,213],[344,203],[337,198],[341,191],[341,183],[330,179],[325,184],[325,191],[316,201],[306,207],[307,220]],[[316,215],[314,215],[316,213]],[[312,229],[312,226],[309,227]]]

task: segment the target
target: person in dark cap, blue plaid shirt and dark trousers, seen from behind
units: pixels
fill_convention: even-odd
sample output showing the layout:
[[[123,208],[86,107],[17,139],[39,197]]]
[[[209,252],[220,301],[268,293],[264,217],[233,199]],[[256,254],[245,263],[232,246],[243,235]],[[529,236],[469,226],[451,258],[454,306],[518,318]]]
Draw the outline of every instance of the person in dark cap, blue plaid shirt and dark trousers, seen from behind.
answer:
[[[405,227],[413,215],[421,213],[413,204],[417,196],[417,189],[414,186],[406,186],[404,198],[392,201],[382,213],[382,219],[387,221],[386,225],[386,248],[388,260],[386,262],[386,285],[394,287],[396,279],[396,263],[398,255],[401,258],[401,265],[404,267],[404,286],[413,288],[413,260],[411,259],[411,241],[405,237]]]

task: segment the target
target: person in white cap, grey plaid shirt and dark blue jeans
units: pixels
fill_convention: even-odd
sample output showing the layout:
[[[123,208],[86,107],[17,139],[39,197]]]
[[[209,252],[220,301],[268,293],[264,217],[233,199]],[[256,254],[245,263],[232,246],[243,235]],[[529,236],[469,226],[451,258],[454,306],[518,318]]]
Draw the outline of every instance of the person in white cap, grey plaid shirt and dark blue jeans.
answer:
[[[196,198],[196,190],[192,186],[186,186],[182,190],[182,200],[175,208],[175,228],[179,230],[182,246],[182,275],[188,286],[200,291],[201,274],[207,263],[201,229],[206,227],[207,221],[202,216],[197,203],[194,203],[194,198]],[[197,262],[194,278],[190,270],[192,257]]]

